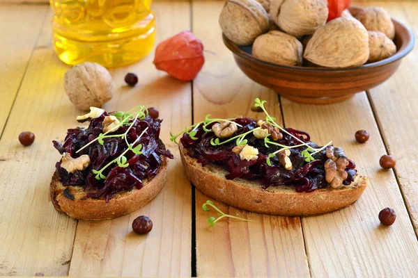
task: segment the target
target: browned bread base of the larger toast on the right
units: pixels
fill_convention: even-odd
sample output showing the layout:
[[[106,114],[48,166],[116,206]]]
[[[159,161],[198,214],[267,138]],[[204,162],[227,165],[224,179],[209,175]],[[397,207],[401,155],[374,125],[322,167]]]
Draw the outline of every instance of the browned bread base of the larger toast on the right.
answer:
[[[356,175],[350,186],[320,188],[311,193],[297,193],[294,186],[270,186],[261,190],[259,181],[228,180],[227,172],[217,165],[202,167],[187,155],[179,143],[185,173],[198,190],[219,202],[246,211],[283,216],[306,216],[329,213],[353,204],[364,192],[369,179]]]

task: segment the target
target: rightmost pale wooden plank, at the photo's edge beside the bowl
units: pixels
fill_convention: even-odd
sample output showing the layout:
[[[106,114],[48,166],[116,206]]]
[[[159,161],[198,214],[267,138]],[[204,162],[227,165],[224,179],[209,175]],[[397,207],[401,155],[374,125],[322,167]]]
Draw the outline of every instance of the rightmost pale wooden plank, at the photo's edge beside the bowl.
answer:
[[[382,6],[392,17],[418,32],[418,3],[372,2]],[[418,49],[403,58],[401,67],[387,82],[370,90],[369,97],[384,133],[389,153],[396,158],[396,175],[408,206],[410,217],[418,233]]]

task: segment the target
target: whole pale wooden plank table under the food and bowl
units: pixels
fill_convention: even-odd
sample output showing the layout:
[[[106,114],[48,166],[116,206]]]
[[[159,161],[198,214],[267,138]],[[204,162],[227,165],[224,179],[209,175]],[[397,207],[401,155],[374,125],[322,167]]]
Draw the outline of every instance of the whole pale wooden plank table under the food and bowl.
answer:
[[[2,1],[3,2],[3,1]],[[418,32],[418,3],[359,2],[383,6]],[[49,181],[63,140],[82,112],[65,95],[63,74],[70,68],[51,44],[46,3],[0,3],[0,275],[211,277],[417,277],[418,270],[418,50],[403,59],[389,81],[340,104],[297,104],[249,80],[224,47],[217,24],[222,1],[156,1],[157,40],[191,29],[203,41],[206,64],[191,83],[155,70],[153,54],[111,70],[116,95],[104,105],[127,110],[144,104],[160,108],[162,140],[176,156],[167,184],[139,211],[109,221],[72,220],[49,200]],[[123,76],[136,72],[127,88]],[[353,206],[309,218],[286,218],[216,203],[223,211],[254,222],[222,221],[208,227],[201,209],[208,199],[185,178],[169,131],[180,131],[206,114],[246,115],[253,99],[285,126],[309,131],[318,143],[333,140],[369,176],[370,186]],[[359,129],[370,132],[360,145]],[[21,131],[36,141],[23,147]],[[397,159],[381,170],[382,154]],[[392,227],[379,224],[382,208],[396,211]],[[132,234],[138,215],[154,223],[148,236]]]

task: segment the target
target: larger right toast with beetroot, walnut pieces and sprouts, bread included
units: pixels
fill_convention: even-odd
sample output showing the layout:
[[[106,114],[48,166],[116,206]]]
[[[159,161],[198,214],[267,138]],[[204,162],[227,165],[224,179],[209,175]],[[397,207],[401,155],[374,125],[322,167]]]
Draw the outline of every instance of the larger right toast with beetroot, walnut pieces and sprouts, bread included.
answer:
[[[332,142],[282,128],[256,99],[265,120],[210,119],[171,136],[190,181],[231,206],[273,215],[315,215],[353,204],[369,183]]]

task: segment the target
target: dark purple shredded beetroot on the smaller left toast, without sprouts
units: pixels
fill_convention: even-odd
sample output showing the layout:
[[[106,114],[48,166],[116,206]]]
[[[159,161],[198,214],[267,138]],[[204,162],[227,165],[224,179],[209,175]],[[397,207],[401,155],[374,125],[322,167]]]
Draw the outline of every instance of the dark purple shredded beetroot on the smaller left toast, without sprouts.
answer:
[[[93,174],[92,170],[100,170],[104,165],[121,155],[127,148],[124,139],[114,137],[104,139],[104,145],[100,145],[98,140],[96,140],[78,154],[76,153],[77,150],[88,142],[97,138],[100,133],[104,133],[102,122],[104,117],[108,115],[108,113],[104,112],[100,117],[91,120],[87,129],[79,127],[68,129],[63,145],[60,142],[52,141],[60,154],[67,152],[72,158],[88,154],[91,160],[90,165],[85,170],[77,170],[74,173],[68,173],[67,170],[61,167],[61,162],[56,163],[56,173],[59,175],[63,186],[82,186],[88,191],[87,197],[104,198],[106,202],[109,202],[114,195],[122,191],[129,191],[132,188],[141,189],[145,179],[157,174],[161,166],[161,156],[174,158],[173,154],[165,148],[160,140],[162,120],[154,119],[147,115],[144,120],[136,120],[129,133],[127,133],[127,141],[132,143],[148,127],[148,130],[135,144],[135,146],[142,145],[141,152],[143,154],[127,152],[125,157],[129,164],[128,167],[118,167],[114,163],[114,165],[104,170],[103,174],[107,177],[106,179],[95,179],[95,174]],[[132,120],[130,123],[132,123]],[[128,127],[126,125],[121,126],[112,134],[125,133]]]

